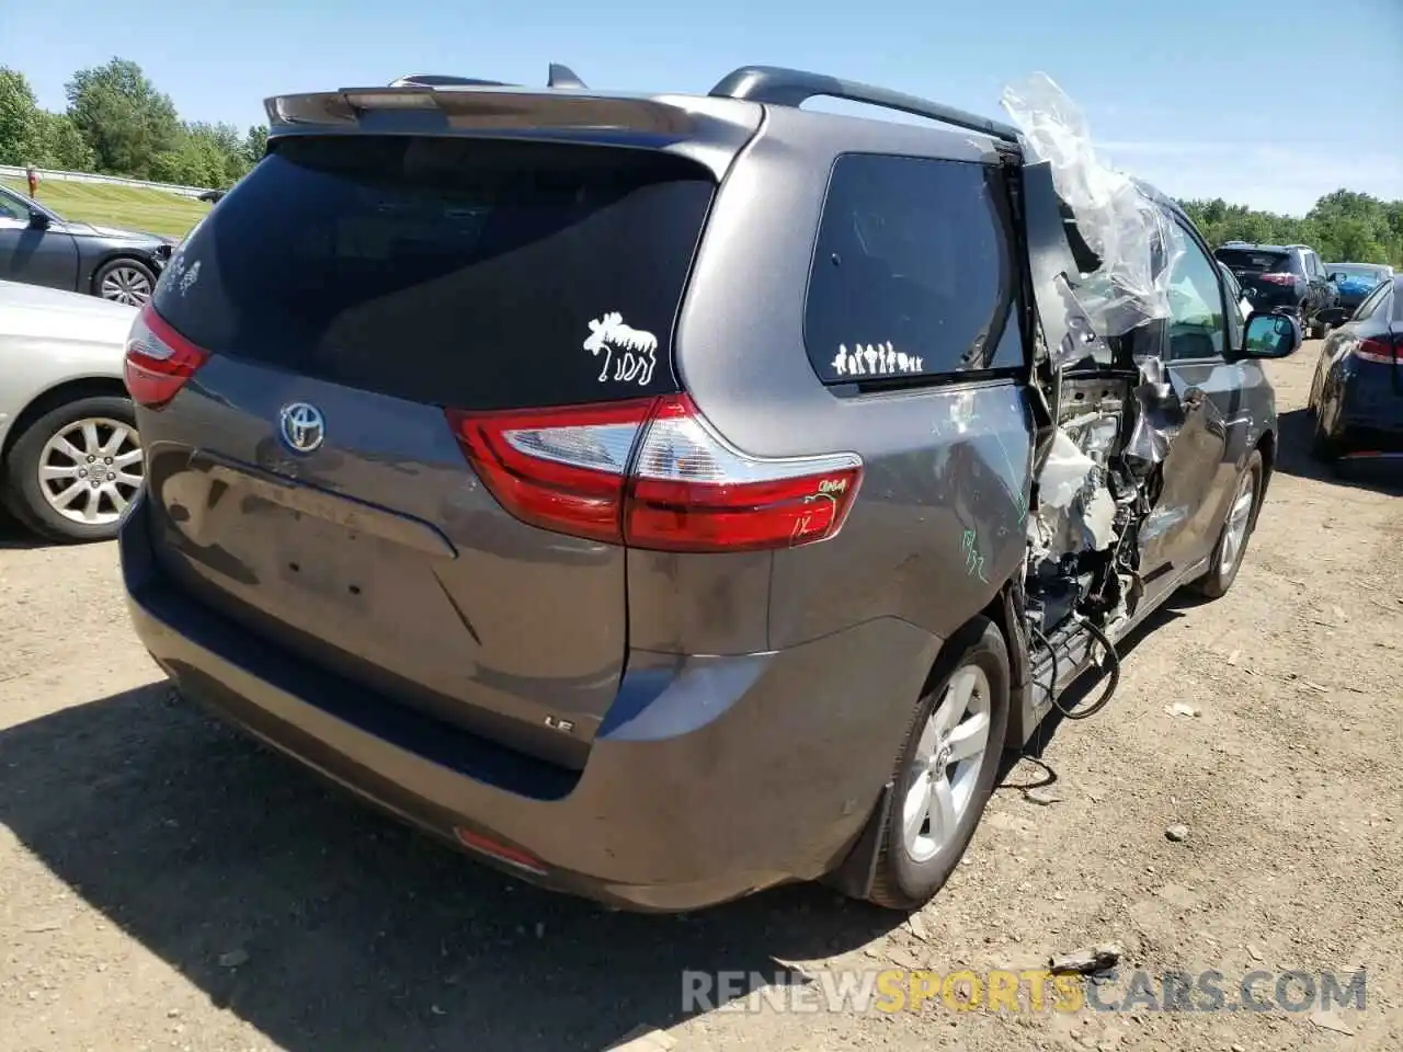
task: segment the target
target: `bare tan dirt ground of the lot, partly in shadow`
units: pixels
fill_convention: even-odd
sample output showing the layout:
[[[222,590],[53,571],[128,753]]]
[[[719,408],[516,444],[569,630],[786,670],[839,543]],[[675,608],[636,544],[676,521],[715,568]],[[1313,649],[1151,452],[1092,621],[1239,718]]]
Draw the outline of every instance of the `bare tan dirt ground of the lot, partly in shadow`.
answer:
[[[1111,707],[1009,771],[915,924],[817,888],[676,919],[511,884],[168,704],[112,546],[0,527],[0,1046],[598,1049],[641,1024],[678,1052],[1403,1048],[1403,501],[1305,457],[1315,353],[1273,370],[1281,463],[1233,592],[1157,617]],[[1218,969],[1229,1006],[1253,969],[1270,999],[1362,965],[1367,1007],[682,1004],[682,969],[1023,969],[1101,941]]]

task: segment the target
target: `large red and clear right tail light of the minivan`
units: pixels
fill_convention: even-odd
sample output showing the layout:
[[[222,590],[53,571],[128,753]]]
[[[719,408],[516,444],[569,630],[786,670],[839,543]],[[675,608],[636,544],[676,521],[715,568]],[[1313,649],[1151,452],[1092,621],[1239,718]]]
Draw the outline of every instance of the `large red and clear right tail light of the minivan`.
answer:
[[[685,394],[448,417],[483,484],[518,519],[636,548],[812,544],[842,529],[861,484],[853,453],[741,453]]]

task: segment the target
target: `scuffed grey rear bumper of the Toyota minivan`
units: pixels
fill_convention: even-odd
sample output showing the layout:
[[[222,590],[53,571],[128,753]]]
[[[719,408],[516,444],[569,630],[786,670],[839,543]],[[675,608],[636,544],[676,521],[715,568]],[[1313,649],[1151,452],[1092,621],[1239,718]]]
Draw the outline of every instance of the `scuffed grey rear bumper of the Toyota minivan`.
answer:
[[[532,868],[501,853],[483,856],[490,864],[629,909],[696,909],[840,864],[939,649],[880,619],[774,654],[633,652],[585,769],[568,771],[311,668],[198,605],[153,558],[145,504],[119,546],[136,631],[191,700],[435,835],[470,850],[485,837]]]

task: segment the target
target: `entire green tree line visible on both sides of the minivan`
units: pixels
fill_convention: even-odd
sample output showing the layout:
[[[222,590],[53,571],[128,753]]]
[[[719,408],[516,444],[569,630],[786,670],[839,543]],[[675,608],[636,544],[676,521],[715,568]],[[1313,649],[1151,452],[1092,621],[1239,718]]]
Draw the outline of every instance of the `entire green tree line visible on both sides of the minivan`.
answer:
[[[268,129],[181,121],[170,95],[129,59],[83,69],[66,84],[62,114],[41,109],[24,74],[0,66],[0,164],[95,171],[153,182],[224,189],[264,154]],[[1324,262],[1403,268],[1403,201],[1337,189],[1305,215],[1246,205],[1181,202],[1212,245],[1225,241],[1308,244]]]

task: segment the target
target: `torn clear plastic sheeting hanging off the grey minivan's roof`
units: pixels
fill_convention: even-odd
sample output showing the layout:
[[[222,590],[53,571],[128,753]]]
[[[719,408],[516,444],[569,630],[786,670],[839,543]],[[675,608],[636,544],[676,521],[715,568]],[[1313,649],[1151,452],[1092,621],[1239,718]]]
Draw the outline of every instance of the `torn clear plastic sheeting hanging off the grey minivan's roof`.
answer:
[[[1125,173],[1103,164],[1086,118],[1051,77],[1035,73],[1003,90],[1003,108],[1023,132],[1024,149],[1052,171],[1058,196],[1101,265],[1068,275],[1076,299],[1103,338],[1169,317],[1169,275],[1184,251],[1163,212]]]

